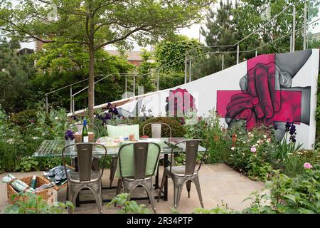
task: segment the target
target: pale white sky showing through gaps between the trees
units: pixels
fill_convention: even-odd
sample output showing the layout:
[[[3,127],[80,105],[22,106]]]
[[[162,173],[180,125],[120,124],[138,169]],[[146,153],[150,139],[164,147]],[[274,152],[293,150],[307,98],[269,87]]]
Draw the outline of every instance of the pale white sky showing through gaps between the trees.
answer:
[[[16,1],[16,0],[13,0]],[[224,0],[226,1],[226,0]],[[233,1],[233,3],[235,2],[235,0],[231,0]],[[312,1],[320,1],[320,0],[312,0]],[[218,4],[214,4],[212,7],[213,9],[216,9],[216,7],[218,6]],[[311,21],[314,21],[316,19],[320,19],[320,12],[318,14],[318,16],[316,16],[314,19],[311,19]],[[320,32],[320,21],[318,21],[319,24],[312,28],[311,26],[309,27],[309,31],[311,31],[311,33],[319,33]],[[182,28],[178,31],[178,33],[182,34],[182,35],[186,35],[189,38],[196,38],[199,39],[199,30],[201,28],[201,26],[205,27],[205,21],[201,21],[200,24],[193,24],[191,27],[189,28]],[[203,36],[200,36],[200,41],[201,43],[205,43],[205,38]],[[233,43],[230,43],[233,44]],[[35,48],[35,43],[31,42],[31,43],[21,43],[21,47],[22,48]],[[140,50],[142,47],[139,47],[137,44],[134,44],[134,50]],[[111,49],[114,50],[116,49],[114,46],[106,46],[105,49]],[[146,47],[147,50],[150,50],[150,46]]]

